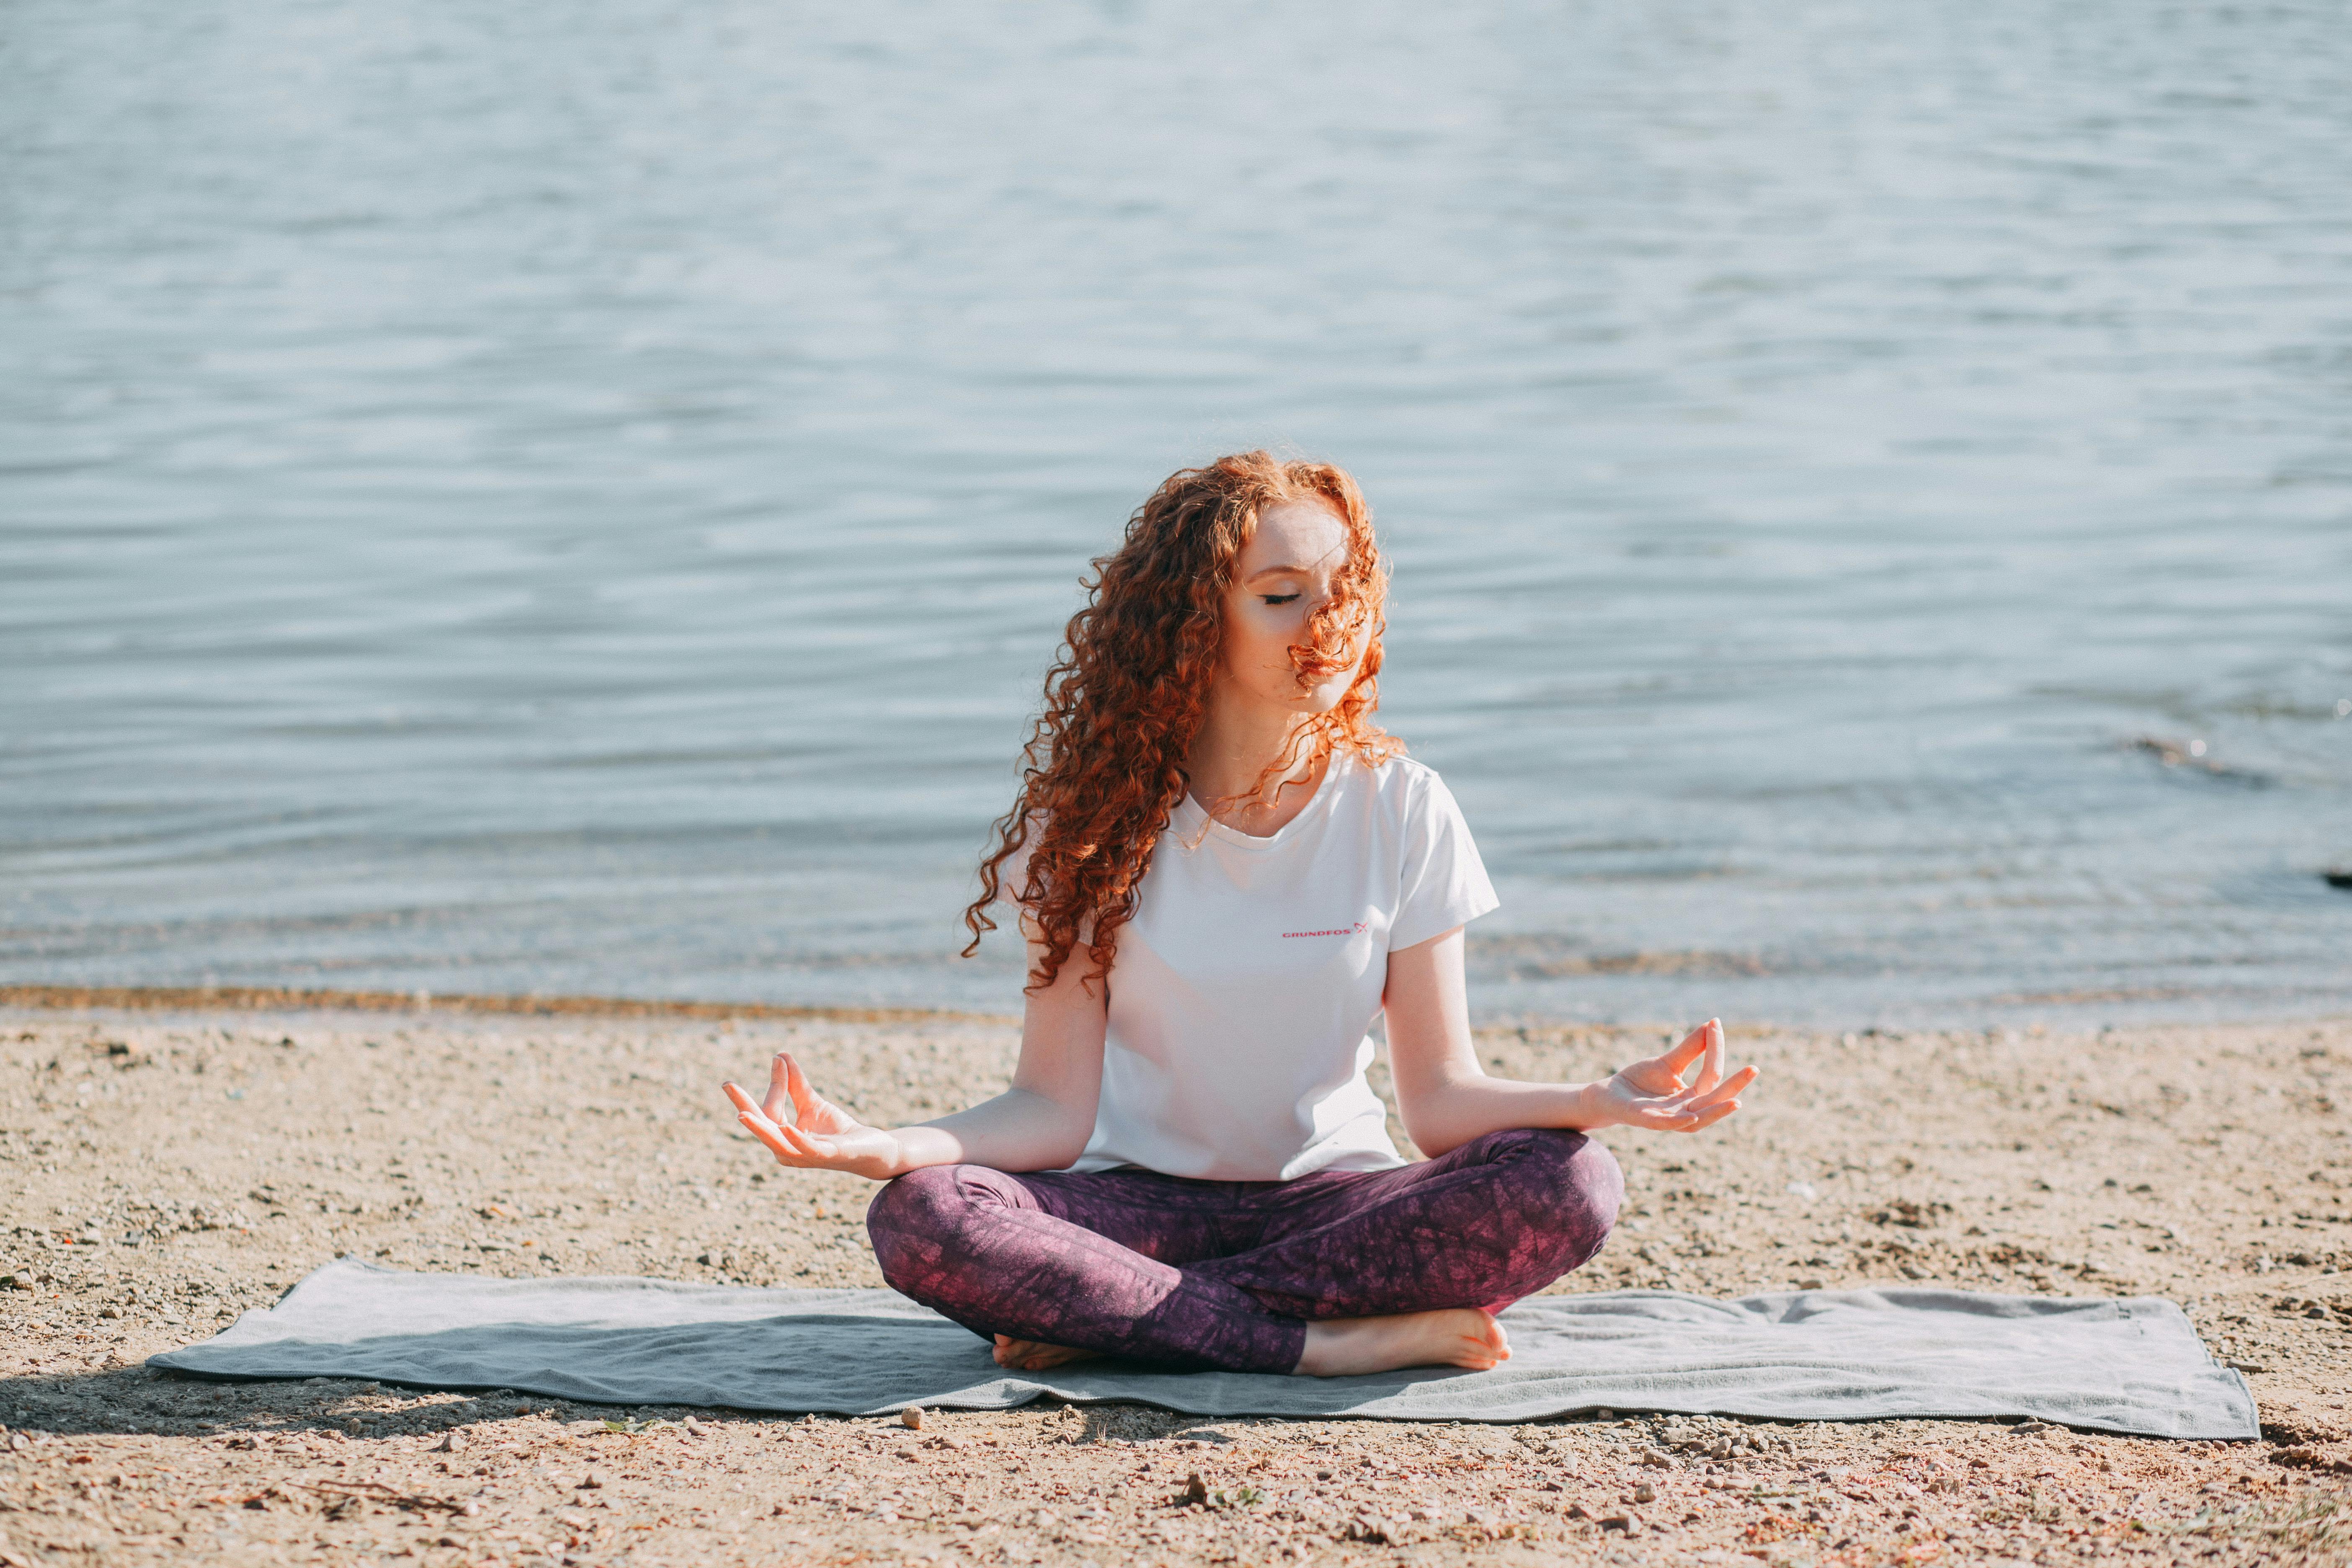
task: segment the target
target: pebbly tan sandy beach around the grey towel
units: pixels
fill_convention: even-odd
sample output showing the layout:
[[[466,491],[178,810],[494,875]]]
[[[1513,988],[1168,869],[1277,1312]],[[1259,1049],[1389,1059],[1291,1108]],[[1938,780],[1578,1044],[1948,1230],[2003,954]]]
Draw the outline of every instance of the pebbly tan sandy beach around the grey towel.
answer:
[[[1204,1427],[1131,1406],[908,1429],[207,1385],[143,1359],[336,1255],[875,1286],[873,1187],[779,1171],[717,1081],[790,1046],[856,1112],[920,1119],[995,1088],[1016,1030],[440,1009],[0,1023],[7,1568],[2352,1561],[2352,1020],[1733,1027],[1766,1072],[1750,1110],[1703,1138],[1606,1133],[1628,1213],[1555,1286],[2169,1295],[2246,1371],[2253,1443],[1637,1413]],[[1482,1046],[1501,1072],[1590,1077],[1661,1037]]]

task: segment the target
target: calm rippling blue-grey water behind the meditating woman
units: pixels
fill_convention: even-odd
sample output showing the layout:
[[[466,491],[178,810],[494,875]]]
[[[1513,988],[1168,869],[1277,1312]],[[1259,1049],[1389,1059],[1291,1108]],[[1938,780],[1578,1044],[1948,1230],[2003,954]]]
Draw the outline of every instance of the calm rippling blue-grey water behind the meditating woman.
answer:
[[[26,0],[0,978],[1011,1009],[1075,578],[1270,442],[1381,512],[1484,1016],[2340,1011],[2345,80],[2328,5]]]

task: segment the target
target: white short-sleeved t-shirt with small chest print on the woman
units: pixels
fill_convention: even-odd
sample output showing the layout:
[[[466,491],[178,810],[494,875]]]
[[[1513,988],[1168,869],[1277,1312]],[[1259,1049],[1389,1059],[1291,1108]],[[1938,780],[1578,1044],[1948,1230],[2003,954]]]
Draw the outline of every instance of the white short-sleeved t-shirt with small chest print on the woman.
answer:
[[[1185,797],[1120,926],[1103,1098],[1070,1168],[1291,1180],[1404,1164],[1364,1081],[1388,954],[1498,903],[1454,795],[1409,757],[1334,752],[1265,839]]]

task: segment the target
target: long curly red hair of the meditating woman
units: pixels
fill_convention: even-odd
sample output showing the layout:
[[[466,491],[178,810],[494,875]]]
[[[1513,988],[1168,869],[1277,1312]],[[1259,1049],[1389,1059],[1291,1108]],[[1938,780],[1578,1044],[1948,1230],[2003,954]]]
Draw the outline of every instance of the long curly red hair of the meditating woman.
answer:
[[[964,957],[997,929],[988,907],[1000,896],[1000,867],[1025,846],[1028,872],[1014,898],[1044,945],[1028,990],[1051,985],[1080,940],[1094,959],[1087,983],[1110,973],[1152,846],[1190,788],[1185,759],[1223,654],[1232,564],[1258,517],[1291,501],[1329,505],[1348,531],[1348,564],[1308,618],[1308,642],[1291,649],[1291,665],[1301,677],[1329,677],[1355,663],[1357,646],[1362,663],[1348,693],[1301,726],[1291,755],[1268,766],[1256,788],[1301,755],[1322,764],[1345,748],[1378,766],[1404,750],[1371,722],[1388,569],[1355,480],[1331,463],[1268,451],[1178,470],[1127,520],[1120,550],[1094,562],[1087,607],[1070,618],[1061,658],[1044,677],[1021,795],[997,818],[981,896],[964,910],[971,929]]]

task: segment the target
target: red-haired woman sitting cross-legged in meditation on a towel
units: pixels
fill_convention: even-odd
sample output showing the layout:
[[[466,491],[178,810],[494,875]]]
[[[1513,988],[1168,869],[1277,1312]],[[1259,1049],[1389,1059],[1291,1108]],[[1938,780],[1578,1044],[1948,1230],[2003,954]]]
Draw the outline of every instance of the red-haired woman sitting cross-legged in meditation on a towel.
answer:
[[[1169,477],[1096,562],[964,912],[974,945],[1000,900],[1028,940],[1011,1088],[880,1128],[790,1056],[764,1100],[727,1084],[786,1166],[889,1182],[882,1276],[1002,1366],[1496,1366],[1494,1314],[1616,1220],[1585,1133],[1698,1131],[1755,1081],[1719,1023],[1599,1084],[1479,1070],[1463,924],[1496,896],[1371,722],[1385,583],[1338,468]],[[1374,1016],[1423,1164],[1364,1081]]]

